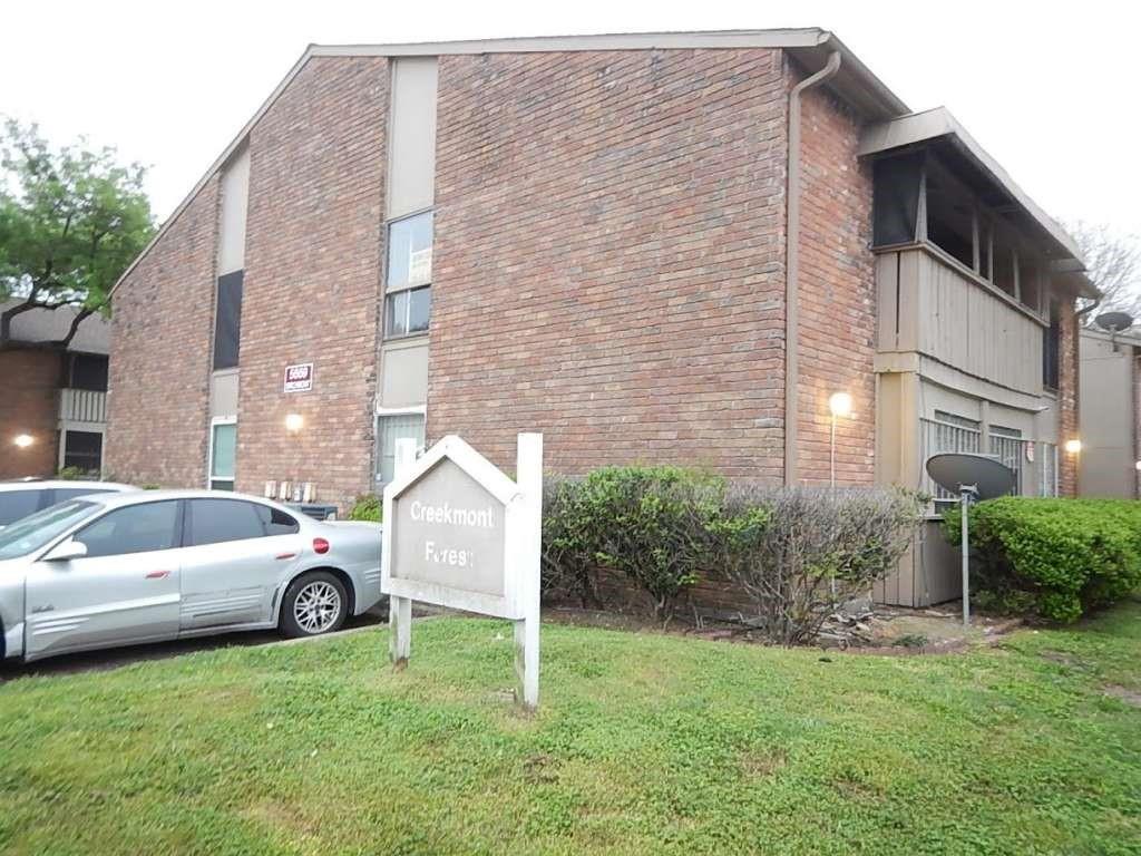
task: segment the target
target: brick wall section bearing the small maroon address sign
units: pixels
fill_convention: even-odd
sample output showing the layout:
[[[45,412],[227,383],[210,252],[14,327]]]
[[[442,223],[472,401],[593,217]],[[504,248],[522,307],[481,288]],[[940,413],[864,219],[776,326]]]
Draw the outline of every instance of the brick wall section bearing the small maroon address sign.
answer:
[[[318,57],[251,132],[241,491],[306,481],[345,506],[371,487],[387,113],[386,59]],[[283,394],[285,366],[308,362],[314,390]]]

